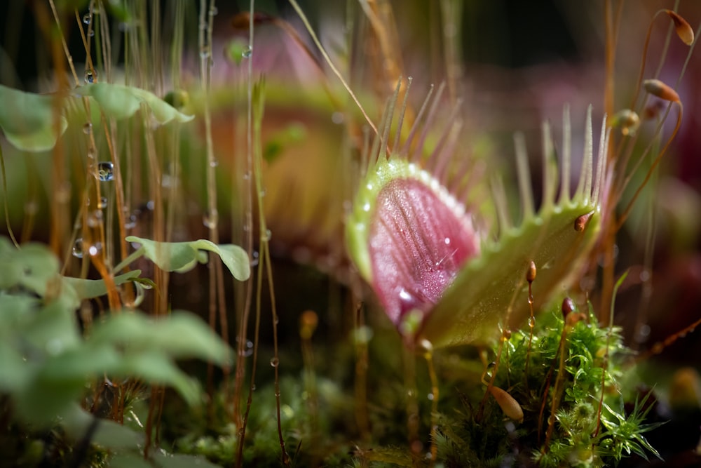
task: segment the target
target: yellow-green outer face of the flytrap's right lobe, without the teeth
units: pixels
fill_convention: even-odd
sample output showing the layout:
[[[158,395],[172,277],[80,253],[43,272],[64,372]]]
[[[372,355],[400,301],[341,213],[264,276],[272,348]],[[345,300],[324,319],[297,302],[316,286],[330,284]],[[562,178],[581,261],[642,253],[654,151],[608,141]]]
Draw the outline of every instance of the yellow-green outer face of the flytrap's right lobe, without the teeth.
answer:
[[[485,340],[494,335],[508,311],[510,326],[517,327],[529,314],[529,262],[538,267],[533,281],[533,307],[538,309],[553,290],[579,272],[580,261],[599,232],[599,213],[592,215],[583,232],[573,226],[580,215],[593,209],[588,204],[571,204],[540,213],[511,229],[498,243],[487,245],[446,290],[421,335],[434,346]]]

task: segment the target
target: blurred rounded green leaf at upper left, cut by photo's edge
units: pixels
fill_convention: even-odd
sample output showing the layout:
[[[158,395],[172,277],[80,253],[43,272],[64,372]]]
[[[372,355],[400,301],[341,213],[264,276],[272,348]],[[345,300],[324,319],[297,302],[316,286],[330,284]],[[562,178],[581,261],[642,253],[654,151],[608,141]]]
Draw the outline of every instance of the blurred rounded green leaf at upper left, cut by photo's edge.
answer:
[[[53,95],[25,93],[0,85],[0,128],[18,149],[48,151],[66,131],[68,122]]]

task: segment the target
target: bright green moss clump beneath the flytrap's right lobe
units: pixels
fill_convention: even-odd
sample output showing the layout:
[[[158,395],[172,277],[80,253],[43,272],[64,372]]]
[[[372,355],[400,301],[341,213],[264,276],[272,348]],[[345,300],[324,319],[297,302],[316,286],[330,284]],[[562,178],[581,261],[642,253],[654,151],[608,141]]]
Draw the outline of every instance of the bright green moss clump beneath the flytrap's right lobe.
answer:
[[[600,467],[631,453],[659,456],[643,435],[658,426],[644,422],[649,394],[632,413],[624,410],[617,380],[627,349],[620,330],[599,327],[593,314],[580,318],[566,322],[557,310],[538,316],[530,345],[529,328],[503,342],[494,385],[519,403],[524,422],[504,424],[491,397],[482,413],[465,402],[461,412],[440,418],[439,460],[447,466]]]

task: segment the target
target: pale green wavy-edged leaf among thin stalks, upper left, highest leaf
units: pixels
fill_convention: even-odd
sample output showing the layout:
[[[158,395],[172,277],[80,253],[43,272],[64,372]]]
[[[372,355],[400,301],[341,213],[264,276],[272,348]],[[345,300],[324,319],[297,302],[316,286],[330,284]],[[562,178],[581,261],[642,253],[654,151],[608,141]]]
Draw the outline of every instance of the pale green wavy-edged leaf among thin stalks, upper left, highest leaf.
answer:
[[[112,83],[90,83],[73,90],[79,96],[90,96],[97,101],[102,111],[114,119],[126,119],[134,115],[142,105],[147,105],[158,123],[172,120],[189,122],[194,116],[182,114],[154,93],[133,86]]]

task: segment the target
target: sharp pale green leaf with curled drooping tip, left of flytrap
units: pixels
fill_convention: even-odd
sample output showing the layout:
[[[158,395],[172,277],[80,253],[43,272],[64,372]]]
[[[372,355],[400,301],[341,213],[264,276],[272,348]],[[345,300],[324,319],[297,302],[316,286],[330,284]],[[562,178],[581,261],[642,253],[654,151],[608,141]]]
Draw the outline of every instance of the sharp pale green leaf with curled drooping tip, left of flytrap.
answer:
[[[144,255],[168,272],[187,272],[197,265],[197,262],[207,262],[207,255],[200,250],[217,253],[229,272],[239,281],[250,276],[250,260],[248,254],[239,246],[226,244],[217,246],[204,239],[191,242],[156,242],[137,236],[128,236],[128,242],[140,243]]]

